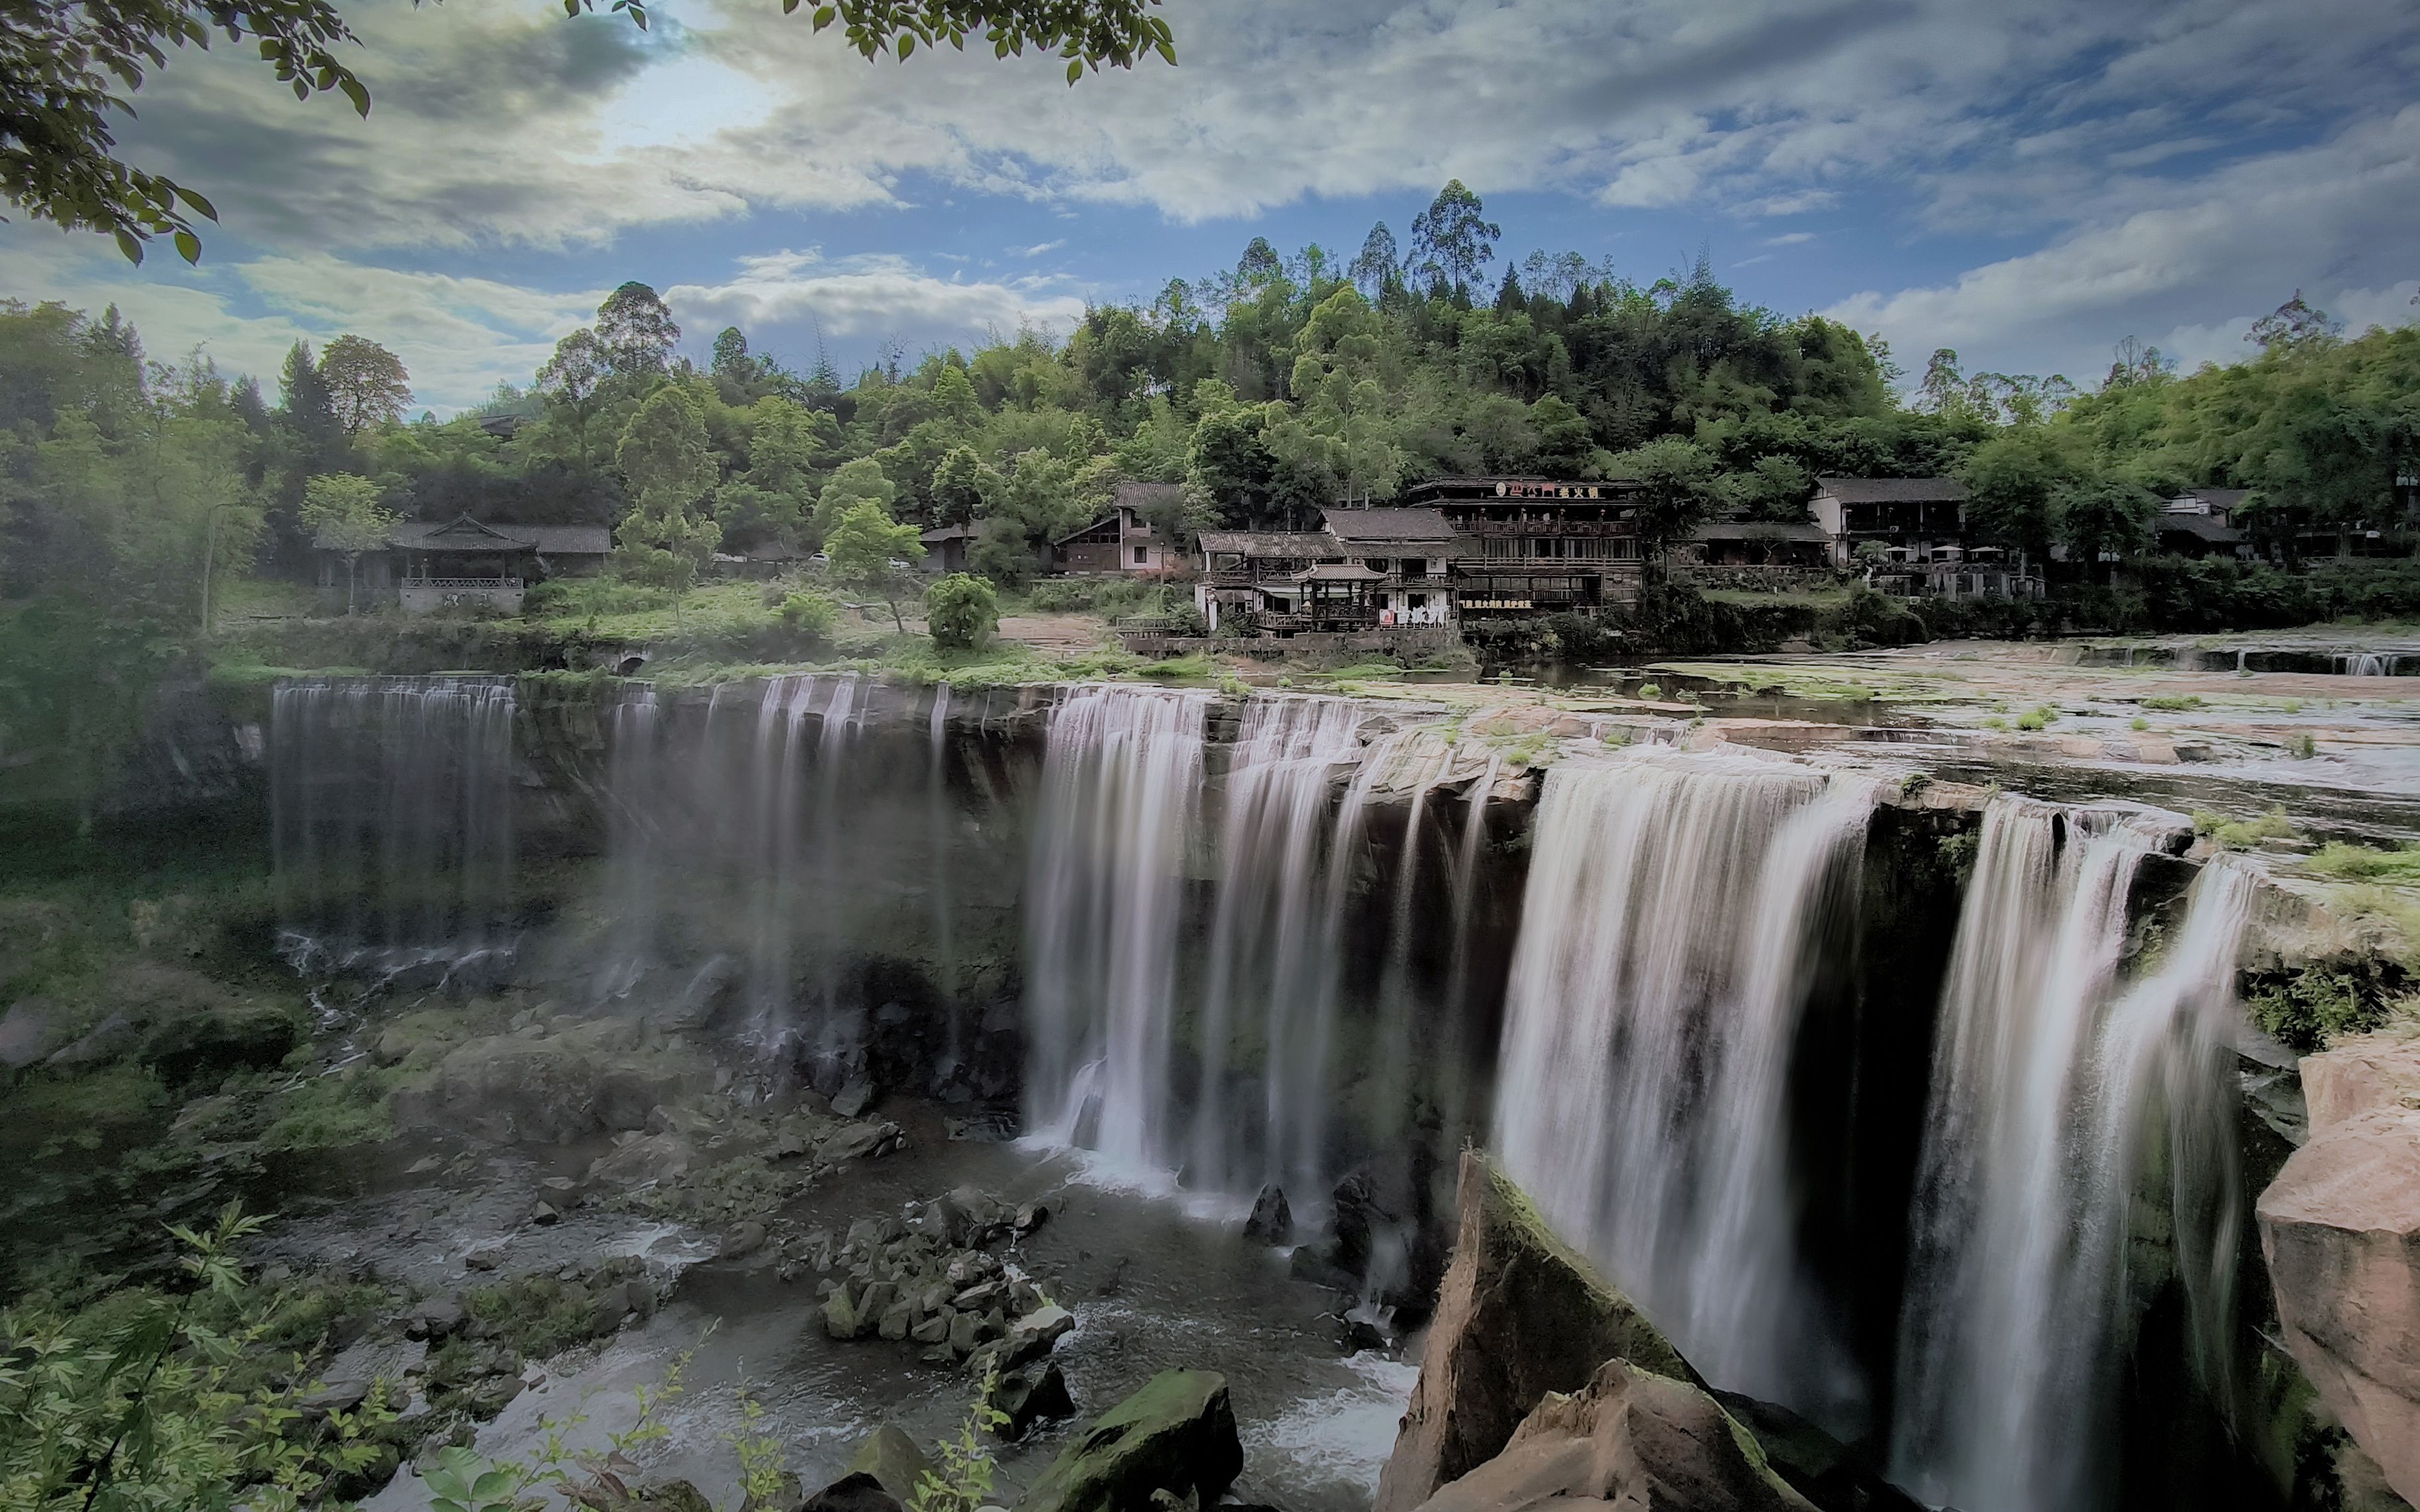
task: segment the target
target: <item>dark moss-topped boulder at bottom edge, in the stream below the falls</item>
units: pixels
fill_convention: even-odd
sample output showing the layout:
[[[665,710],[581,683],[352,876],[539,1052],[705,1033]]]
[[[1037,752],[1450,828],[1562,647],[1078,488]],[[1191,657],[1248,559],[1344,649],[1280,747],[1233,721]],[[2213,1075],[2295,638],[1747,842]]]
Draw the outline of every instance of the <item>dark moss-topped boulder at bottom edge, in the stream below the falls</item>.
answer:
[[[1169,1369],[1067,1444],[1016,1512],[1130,1512],[1159,1490],[1208,1507],[1241,1468],[1227,1377]]]

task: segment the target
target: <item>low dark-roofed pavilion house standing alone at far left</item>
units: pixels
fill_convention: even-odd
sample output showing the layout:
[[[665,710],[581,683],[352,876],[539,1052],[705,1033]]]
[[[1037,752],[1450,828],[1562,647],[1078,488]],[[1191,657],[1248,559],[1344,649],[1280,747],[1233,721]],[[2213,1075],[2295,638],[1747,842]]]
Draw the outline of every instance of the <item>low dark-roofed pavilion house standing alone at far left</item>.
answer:
[[[455,607],[494,607],[520,612],[520,598],[532,581],[586,576],[612,554],[612,530],[605,525],[515,525],[511,520],[472,520],[467,513],[443,523],[407,520],[387,532],[387,544],[346,564],[324,539],[312,542],[319,556],[322,598],[363,602],[394,595],[407,614],[433,614]]]

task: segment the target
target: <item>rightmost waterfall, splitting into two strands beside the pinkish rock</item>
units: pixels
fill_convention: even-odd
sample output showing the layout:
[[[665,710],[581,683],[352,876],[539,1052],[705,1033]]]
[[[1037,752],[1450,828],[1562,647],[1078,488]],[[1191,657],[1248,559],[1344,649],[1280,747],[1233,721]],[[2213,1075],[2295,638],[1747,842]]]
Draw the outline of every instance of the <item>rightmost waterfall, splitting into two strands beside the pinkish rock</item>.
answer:
[[[2205,868],[2163,965],[2120,989],[2139,861],[2180,820],[1996,798],[1943,989],[1900,1323],[1895,1473],[1970,1512],[2105,1502],[2125,1241],[2166,1132],[2193,1311],[2234,1265],[2226,1052],[2248,881]],[[2209,1323],[2219,1318],[2219,1323]],[[2205,1369],[2224,1374],[2224,1345]]]

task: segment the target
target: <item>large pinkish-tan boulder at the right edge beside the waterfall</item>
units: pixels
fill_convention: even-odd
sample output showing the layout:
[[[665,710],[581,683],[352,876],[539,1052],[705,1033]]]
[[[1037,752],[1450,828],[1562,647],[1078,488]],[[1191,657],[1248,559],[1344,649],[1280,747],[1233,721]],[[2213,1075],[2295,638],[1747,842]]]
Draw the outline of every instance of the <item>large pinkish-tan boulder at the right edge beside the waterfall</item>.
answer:
[[[2321,1406],[2420,1502],[2420,1038],[2301,1062],[2311,1142],[2260,1193],[2284,1345]]]

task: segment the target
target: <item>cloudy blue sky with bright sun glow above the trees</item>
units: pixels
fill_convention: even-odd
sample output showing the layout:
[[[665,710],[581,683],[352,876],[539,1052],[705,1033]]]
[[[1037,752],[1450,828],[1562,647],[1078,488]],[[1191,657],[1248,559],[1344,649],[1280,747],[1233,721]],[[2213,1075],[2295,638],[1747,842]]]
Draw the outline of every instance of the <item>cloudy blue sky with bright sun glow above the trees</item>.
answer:
[[[1503,259],[1648,283],[1701,252],[1921,373],[2091,385],[2125,336],[2236,360],[2301,290],[2420,317],[2410,0],[1169,0],[1174,68],[866,63],[813,10],[339,0],[373,94],[172,56],[119,143],[220,210],[198,269],[0,225],[0,295],[116,302],[155,358],[273,377],[358,331],[450,414],[627,278],[845,375],[1232,269],[1353,256],[1462,179]]]

